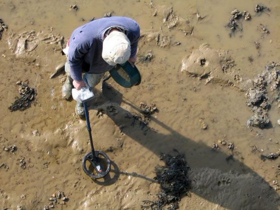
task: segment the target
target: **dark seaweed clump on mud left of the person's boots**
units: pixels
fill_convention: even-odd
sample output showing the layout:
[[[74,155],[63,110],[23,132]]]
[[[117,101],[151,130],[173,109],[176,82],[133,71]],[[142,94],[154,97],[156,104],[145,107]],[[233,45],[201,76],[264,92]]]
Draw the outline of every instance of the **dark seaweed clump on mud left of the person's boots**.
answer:
[[[17,110],[23,111],[29,108],[36,95],[35,89],[30,88],[26,82],[18,81],[16,84],[20,85],[18,93],[21,95],[21,97],[17,97],[16,101],[10,107],[8,107],[11,112]]]

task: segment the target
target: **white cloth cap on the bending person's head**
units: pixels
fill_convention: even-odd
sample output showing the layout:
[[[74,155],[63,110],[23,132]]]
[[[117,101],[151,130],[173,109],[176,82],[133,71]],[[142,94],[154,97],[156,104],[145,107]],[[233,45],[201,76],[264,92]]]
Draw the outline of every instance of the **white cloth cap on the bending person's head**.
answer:
[[[109,65],[115,66],[128,61],[131,54],[130,41],[120,31],[112,31],[103,41],[102,58]]]

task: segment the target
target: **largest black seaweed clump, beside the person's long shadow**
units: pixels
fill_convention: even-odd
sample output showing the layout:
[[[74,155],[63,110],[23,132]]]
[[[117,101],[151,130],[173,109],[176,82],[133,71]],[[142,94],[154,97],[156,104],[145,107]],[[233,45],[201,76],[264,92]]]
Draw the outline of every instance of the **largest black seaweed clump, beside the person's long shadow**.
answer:
[[[176,156],[164,155],[165,166],[156,166],[156,177],[160,184],[160,191],[156,201],[145,200],[142,209],[160,210],[164,206],[168,209],[178,209],[181,198],[189,195],[191,188],[188,171],[190,170],[184,155],[178,153]]]

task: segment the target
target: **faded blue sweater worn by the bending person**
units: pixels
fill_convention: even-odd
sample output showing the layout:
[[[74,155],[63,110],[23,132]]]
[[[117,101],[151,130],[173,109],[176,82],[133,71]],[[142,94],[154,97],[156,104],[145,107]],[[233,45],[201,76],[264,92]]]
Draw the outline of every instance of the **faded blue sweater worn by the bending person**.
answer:
[[[136,21],[118,16],[91,21],[75,29],[69,39],[68,60],[72,79],[82,80],[84,71],[99,74],[113,68],[102,58],[104,34],[113,26],[122,29],[127,35],[131,43],[130,57],[136,55],[140,37],[140,28]]]

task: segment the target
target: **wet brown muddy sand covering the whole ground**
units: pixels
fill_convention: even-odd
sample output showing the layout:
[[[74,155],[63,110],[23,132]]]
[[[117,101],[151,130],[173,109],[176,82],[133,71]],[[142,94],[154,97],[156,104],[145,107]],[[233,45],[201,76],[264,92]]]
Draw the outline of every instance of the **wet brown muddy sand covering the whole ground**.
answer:
[[[176,149],[192,186],[179,209],[279,209],[279,14],[277,0],[0,0],[0,208],[141,209]],[[141,27],[142,83],[96,87],[94,146],[112,168],[92,180],[86,121],[61,97],[66,75],[50,76],[72,31],[110,15]],[[35,100],[10,112],[18,81]],[[157,107],[146,123],[141,104]]]

